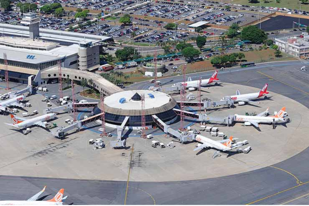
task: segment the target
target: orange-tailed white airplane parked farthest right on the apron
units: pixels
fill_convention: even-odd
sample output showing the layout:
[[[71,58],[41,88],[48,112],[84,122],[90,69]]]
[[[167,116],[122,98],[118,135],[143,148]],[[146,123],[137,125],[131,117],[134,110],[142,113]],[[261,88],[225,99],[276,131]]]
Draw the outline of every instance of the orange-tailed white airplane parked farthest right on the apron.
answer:
[[[284,121],[286,121],[284,119],[284,117],[287,116],[286,107],[282,107],[281,110],[279,112],[277,112],[277,114],[275,114],[273,116],[264,116],[265,114],[268,113],[268,109],[269,108],[267,108],[266,111],[263,111],[262,113],[260,113],[260,114],[258,114],[256,116],[247,116],[247,115],[235,114],[235,116],[236,116],[235,121],[236,122],[244,122],[244,124],[246,126],[253,125],[256,128],[259,127],[260,123],[271,124],[271,123],[273,123],[273,121],[274,122],[278,122],[278,121],[284,122]]]

